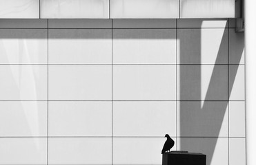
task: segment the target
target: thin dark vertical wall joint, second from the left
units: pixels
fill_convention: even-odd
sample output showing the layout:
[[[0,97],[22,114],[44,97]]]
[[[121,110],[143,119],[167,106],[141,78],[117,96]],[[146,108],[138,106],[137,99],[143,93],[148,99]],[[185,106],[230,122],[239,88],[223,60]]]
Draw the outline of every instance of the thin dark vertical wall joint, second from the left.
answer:
[[[111,164],[113,164],[113,20],[111,19]]]

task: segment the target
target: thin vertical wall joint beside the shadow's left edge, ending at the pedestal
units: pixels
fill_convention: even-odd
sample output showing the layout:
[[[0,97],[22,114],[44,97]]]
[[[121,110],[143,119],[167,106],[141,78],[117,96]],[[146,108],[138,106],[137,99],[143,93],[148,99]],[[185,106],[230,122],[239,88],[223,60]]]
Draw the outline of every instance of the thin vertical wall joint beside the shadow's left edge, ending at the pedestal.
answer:
[[[176,150],[178,150],[178,19],[176,19]]]

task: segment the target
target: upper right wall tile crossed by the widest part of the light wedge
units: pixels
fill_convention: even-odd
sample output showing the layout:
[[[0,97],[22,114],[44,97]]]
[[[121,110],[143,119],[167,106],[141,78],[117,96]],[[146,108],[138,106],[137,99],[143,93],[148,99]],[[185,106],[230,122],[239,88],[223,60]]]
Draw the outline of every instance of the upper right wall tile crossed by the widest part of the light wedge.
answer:
[[[178,63],[228,63],[228,29],[179,29],[177,39]]]

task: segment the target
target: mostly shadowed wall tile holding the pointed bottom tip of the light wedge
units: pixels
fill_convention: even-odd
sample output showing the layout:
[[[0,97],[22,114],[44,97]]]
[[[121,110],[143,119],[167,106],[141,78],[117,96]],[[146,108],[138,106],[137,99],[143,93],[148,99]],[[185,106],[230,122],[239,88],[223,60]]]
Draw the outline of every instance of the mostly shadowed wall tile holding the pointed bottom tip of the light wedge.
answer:
[[[228,102],[178,102],[178,136],[227,137]]]

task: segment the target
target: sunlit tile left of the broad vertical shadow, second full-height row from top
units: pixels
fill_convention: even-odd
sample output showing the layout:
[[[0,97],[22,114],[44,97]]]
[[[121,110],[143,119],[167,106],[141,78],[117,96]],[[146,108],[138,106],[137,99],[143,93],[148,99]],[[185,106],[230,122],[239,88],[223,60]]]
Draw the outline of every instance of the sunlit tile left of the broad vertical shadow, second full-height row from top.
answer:
[[[175,66],[114,66],[113,100],[175,100]]]

